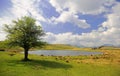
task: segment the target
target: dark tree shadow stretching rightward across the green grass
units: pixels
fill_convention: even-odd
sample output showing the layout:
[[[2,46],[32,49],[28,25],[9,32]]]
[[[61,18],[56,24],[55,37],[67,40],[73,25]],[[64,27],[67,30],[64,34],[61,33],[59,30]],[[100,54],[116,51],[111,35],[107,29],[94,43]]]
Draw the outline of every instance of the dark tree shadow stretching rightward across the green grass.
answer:
[[[71,65],[66,64],[66,63],[61,63],[61,62],[56,62],[56,61],[49,61],[49,60],[31,60],[31,61],[19,61],[19,60],[14,60],[14,61],[10,61],[10,63],[12,63],[12,65],[10,66],[17,66],[17,65],[23,65],[25,67],[41,67],[43,69],[46,68],[61,68],[61,69],[69,69],[72,68]]]

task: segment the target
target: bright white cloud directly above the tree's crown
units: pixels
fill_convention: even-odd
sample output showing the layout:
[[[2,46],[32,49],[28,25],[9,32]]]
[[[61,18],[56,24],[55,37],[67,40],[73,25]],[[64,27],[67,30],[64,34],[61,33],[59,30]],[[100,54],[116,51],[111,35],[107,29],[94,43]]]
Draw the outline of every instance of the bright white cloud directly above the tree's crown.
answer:
[[[13,7],[10,9],[15,17],[31,15],[39,21],[45,21],[45,18],[40,14],[39,3],[41,0],[11,0]]]

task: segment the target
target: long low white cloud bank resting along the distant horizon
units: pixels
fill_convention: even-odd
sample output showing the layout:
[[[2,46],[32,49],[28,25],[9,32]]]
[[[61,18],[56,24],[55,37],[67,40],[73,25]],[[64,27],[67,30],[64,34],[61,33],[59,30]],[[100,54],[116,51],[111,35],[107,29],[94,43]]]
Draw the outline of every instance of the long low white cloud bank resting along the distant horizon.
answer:
[[[97,30],[92,31],[91,33],[82,33],[81,35],[73,34],[71,32],[60,34],[53,34],[49,32],[44,40],[52,44],[70,44],[85,47],[97,47],[104,44],[120,46],[119,33],[114,31],[98,32]]]

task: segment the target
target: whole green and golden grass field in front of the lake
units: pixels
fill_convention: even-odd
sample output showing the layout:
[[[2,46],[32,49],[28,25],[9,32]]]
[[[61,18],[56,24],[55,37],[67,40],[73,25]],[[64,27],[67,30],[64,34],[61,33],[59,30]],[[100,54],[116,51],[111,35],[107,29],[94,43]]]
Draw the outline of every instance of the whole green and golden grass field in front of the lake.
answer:
[[[66,46],[62,47],[66,48]],[[0,76],[120,76],[119,48],[111,50],[109,47],[104,47],[95,51],[102,51],[104,54],[99,56],[29,55],[31,61],[28,62],[21,61],[23,54],[13,51],[0,52]]]

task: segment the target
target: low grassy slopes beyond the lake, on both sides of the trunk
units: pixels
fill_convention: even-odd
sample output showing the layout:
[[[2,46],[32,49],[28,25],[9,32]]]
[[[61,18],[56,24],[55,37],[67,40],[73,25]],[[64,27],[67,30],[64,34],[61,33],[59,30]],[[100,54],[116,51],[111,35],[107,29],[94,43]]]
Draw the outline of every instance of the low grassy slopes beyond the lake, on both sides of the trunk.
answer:
[[[21,47],[6,47],[5,45],[1,45],[0,43],[0,49],[6,49],[7,51],[23,51],[23,48]],[[71,45],[65,45],[65,44],[47,44],[43,47],[35,47],[31,48],[30,50],[81,50],[81,51],[101,51],[102,50],[120,50],[120,48],[115,48],[115,47],[102,47],[101,49],[96,49],[93,50],[92,48],[80,48],[76,46],[71,46]]]

